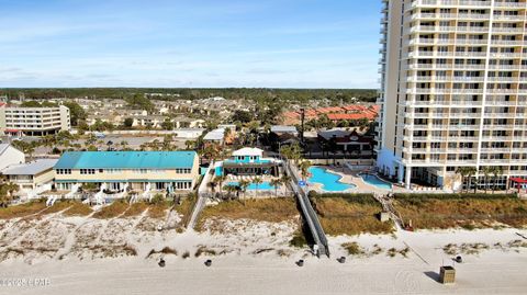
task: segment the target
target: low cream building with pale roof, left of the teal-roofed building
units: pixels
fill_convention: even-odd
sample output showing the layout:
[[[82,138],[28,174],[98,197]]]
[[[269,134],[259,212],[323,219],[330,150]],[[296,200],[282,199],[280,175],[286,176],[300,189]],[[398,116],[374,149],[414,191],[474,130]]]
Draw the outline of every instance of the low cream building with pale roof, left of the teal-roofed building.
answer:
[[[53,167],[57,161],[57,159],[38,159],[27,163],[10,164],[0,170],[0,174],[3,181],[18,184],[21,191],[33,191],[53,182],[55,178]]]

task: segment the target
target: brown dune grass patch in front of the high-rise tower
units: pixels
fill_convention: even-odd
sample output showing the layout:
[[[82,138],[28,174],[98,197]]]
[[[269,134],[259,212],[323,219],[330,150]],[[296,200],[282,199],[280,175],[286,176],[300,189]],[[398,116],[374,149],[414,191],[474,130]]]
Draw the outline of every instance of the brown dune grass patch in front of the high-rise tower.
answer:
[[[396,197],[394,206],[405,223],[412,220],[415,229],[490,228],[496,227],[496,223],[527,225],[527,201],[514,197]]]

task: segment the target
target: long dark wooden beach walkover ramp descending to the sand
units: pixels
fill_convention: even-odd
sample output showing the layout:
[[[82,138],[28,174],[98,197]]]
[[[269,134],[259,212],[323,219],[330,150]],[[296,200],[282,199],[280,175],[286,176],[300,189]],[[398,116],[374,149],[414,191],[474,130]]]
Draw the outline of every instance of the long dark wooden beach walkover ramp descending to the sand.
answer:
[[[315,209],[311,205],[310,198],[307,197],[307,192],[304,188],[299,185],[300,177],[298,171],[291,166],[288,161],[284,161],[284,168],[288,174],[291,177],[291,188],[293,189],[294,195],[299,200],[300,207],[302,209],[302,215],[305,223],[307,224],[310,231],[315,241],[316,248],[318,249],[315,253],[321,256],[327,256],[329,258],[329,246],[327,245],[326,234],[322,228],[318,216],[316,215]]]

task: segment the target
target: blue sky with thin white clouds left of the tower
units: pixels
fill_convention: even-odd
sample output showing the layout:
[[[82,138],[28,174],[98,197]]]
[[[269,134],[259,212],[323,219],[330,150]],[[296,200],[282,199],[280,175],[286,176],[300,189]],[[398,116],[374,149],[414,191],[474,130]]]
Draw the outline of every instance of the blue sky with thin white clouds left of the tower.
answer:
[[[380,0],[0,0],[0,87],[378,88]]]

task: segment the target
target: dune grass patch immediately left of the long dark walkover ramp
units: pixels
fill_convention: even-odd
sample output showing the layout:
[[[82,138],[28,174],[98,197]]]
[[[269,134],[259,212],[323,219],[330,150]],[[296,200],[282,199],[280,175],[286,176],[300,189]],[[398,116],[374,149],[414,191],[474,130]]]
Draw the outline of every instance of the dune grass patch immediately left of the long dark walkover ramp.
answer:
[[[257,222],[281,223],[299,215],[293,198],[260,198],[225,201],[215,206],[206,206],[198,220],[199,229],[209,218],[253,219]]]

